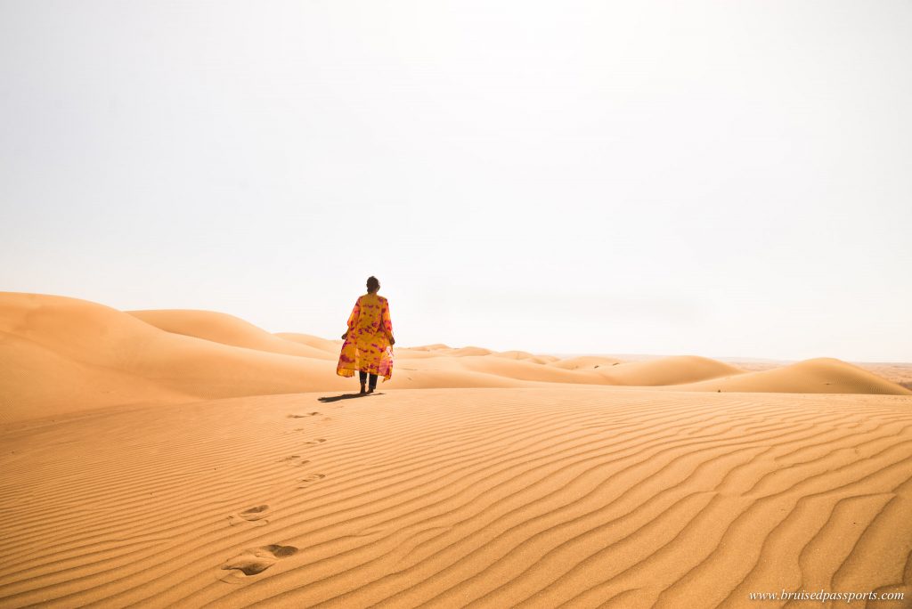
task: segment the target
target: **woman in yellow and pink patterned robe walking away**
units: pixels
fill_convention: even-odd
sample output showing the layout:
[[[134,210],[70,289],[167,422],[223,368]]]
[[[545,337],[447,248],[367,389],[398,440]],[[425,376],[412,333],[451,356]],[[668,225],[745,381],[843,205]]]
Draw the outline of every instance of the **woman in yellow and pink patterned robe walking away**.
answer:
[[[393,376],[393,323],[389,319],[389,303],[377,294],[380,282],[377,277],[368,277],[368,294],[358,296],[355,308],[348,315],[348,329],[342,335],[342,353],[336,374],[340,377],[354,377],[358,370],[361,393],[373,393],[377,388],[377,377],[388,381]],[[370,375],[370,384],[365,388]]]

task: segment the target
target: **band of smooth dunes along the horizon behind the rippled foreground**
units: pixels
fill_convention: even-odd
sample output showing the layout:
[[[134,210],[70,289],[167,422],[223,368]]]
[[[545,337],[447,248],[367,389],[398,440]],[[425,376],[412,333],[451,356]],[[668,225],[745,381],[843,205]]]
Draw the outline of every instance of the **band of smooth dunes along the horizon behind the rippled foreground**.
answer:
[[[211,311],[122,312],[45,294],[0,293],[0,420],[117,404],[340,390],[340,341],[270,334]],[[49,379],[54,382],[48,382]],[[396,349],[383,388],[545,387],[550,383],[668,387],[688,391],[876,393],[906,387],[836,359],[745,372],[699,356],[621,362],[558,359],[478,346]]]

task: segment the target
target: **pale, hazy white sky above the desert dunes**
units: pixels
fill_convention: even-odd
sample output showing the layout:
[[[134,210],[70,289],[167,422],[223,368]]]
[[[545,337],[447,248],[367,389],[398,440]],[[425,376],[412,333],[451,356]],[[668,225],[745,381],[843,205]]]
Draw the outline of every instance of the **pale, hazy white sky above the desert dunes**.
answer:
[[[912,361],[912,2],[0,0],[0,290]]]

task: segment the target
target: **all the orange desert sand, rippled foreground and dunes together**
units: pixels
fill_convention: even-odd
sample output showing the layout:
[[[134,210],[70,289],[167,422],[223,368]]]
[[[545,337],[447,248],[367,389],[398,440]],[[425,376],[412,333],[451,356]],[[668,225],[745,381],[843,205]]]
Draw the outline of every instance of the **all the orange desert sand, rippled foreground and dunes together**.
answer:
[[[0,606],[912,606],[902,378],[340,345],[0,294]]]

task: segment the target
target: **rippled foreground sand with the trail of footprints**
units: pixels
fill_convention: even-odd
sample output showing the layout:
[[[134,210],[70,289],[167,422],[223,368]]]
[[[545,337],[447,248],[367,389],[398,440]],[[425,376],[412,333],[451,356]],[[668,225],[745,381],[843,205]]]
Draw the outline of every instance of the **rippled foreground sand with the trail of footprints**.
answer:
[[[912,398],[566,385],[325,396],[6,426],[0,605],[912,598]]]

